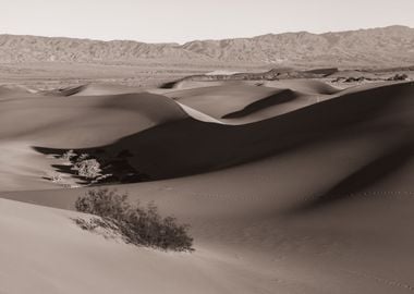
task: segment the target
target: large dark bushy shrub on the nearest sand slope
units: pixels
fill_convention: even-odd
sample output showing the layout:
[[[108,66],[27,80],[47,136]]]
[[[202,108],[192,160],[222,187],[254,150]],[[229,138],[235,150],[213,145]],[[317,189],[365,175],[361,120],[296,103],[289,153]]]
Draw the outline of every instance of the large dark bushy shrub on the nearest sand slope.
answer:
[[[127,194],[100,188],[88,191],[76,200],[75,207],[78,211],[112,222],[127,243],[165,250],[193,250],[188,225],[178,224],[173,217],[162,218],[154,203],[147,206],[141,206],[139,203],[130,205]],[[94,221],[93,224],[99,222]]]

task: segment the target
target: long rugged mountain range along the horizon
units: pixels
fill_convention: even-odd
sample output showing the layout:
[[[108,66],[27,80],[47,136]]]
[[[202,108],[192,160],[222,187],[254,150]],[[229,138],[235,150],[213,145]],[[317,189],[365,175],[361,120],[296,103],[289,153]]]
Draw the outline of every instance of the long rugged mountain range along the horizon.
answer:
[[[44,61],[405,66],[414,64],[414,28],[300,32],[184,45],[0,35],[0,62]]]

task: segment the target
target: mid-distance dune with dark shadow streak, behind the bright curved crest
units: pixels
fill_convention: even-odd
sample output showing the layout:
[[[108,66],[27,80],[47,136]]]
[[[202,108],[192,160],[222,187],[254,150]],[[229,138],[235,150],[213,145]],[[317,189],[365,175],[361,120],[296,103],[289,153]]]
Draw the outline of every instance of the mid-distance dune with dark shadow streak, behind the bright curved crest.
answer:
[[[169,91],[165,95],[229,124],[260,121],[308,106],[317,100],[314,95],[305,95],[290,88],[270,88],[242,83],[208,86],[209,83],[205,83],[205,87]],[[266,111],[256,113],[260,110]],[[248,114],[256,115],[247,118]],[[228,121],[241,118],[243,119]]]

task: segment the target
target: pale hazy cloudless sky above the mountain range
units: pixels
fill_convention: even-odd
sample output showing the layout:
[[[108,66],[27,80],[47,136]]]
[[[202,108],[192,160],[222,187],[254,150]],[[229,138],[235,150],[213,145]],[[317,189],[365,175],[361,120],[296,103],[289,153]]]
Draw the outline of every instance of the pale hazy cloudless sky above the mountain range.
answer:
[[[414,0],[0,0],[0,34],[147,42],[414,27]]]

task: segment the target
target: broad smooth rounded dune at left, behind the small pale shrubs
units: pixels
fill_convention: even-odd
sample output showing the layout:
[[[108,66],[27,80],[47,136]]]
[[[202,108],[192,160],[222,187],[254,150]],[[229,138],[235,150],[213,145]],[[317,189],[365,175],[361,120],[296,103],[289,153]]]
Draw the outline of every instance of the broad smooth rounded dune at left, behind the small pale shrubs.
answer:
[[[172,100],[153,94],[39,96],[1,103],[0,138],[70,148],[109,143],[187,117]]]

